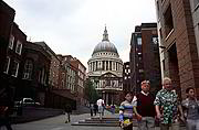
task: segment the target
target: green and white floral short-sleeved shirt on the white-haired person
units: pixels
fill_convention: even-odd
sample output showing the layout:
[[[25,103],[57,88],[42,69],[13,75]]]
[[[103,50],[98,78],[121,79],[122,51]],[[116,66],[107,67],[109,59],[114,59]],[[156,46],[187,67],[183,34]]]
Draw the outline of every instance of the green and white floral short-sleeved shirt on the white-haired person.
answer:
[[[168,124],[177,120],[178,105],[180,105],[180,102],[178,101],[178,96],[175,90],[168,91],[164,88],[159,90],[154,105],[160,108],[163,115],[161,123]]]

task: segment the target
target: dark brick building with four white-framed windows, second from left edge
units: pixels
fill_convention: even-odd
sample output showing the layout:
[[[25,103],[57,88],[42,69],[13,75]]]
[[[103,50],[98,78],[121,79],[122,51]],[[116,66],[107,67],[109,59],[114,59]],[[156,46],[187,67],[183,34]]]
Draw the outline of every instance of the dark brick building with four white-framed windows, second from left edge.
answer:
[[[12,30],[9,36],[9,44],[7,47],[7,58],[3,67],[3,82],[2,86],[10,89],[12,100],[18,99],[18,88],[21,86],[21,75],[23,67],[23,47],[27,42],[27,35],[13,22]],[[2,79],[2,78],[1,78]]]

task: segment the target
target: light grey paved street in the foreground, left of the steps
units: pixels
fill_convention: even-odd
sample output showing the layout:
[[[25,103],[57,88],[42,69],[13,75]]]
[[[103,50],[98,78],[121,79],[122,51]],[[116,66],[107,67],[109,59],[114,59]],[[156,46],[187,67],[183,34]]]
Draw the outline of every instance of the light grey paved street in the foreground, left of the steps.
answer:
[[[76,122],[81,119],[88,118],[90,113],[72,115],[71,122]],[[61,115],[39,121],[32,121],[28,123],[12,124],[13,130],[121,130],[119,127],[87,127],[87,126],[71,126],[71,123],[64,123],[65,116]]]

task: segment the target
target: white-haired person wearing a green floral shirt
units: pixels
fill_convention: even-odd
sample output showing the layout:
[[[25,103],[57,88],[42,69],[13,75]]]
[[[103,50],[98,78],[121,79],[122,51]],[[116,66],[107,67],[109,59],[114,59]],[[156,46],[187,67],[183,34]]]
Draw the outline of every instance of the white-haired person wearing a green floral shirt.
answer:
[[[160,120],[160,130],[179,130],[179,119],[185,120],[178,95],[171,85],[171,79],[165,77],[163,89],[156,95],[154,101],[157,118]],[[180,117],[179,117],[180,113]]]

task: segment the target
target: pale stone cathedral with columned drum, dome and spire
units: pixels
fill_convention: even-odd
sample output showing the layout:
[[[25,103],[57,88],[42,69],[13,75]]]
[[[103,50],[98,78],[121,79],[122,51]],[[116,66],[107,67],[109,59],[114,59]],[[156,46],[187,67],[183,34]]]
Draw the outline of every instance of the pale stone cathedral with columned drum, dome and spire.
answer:
[[[87,64],[88,78],[94,83],[105,104],[118,104],[119,99],[116,97],[123,90],[123,61],[115,45],[108,40],[106,28],[102,42],[95,46]]]

